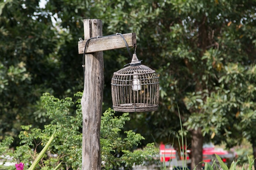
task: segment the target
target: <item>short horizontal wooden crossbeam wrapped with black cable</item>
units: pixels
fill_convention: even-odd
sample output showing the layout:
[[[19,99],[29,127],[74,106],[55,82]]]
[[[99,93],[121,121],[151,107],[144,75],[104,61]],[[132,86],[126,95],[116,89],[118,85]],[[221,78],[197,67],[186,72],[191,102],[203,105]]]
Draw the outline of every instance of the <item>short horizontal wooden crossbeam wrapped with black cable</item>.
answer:
[[[137,43],[136,33],[126,33],[126,34],[123,34],[123,36],[128,46],[134,46],[134,44]],[[97,51],[106,51],[106,50],[124,48],[126,47],[124,39],[121,37],[121,35],[113,35],[109,37],[91,39],[88,43],[86,53],[94,53]],[[86,43],[86,40],[78,42],[79,54],[83,54],[85,49],[85,43]]]

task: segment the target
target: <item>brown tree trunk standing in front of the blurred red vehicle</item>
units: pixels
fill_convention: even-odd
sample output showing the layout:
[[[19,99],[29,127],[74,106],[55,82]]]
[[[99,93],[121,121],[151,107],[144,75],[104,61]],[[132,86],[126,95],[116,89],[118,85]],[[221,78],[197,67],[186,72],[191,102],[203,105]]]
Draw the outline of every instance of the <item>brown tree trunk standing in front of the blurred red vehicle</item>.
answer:
[[[192,141],[191,141],[191,170],[202,169],[202,148],[203,148],[203,136],[201,128],[191,130]]]

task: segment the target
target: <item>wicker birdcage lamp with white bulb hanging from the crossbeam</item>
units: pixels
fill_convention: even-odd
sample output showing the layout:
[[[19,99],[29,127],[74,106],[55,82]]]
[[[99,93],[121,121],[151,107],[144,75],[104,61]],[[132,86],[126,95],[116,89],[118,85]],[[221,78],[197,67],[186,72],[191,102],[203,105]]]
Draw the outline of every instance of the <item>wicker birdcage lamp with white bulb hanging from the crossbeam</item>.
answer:
[[[112,77],[113,109],[120,112],[155,111],[159,103],[159,79],[151,68],[141,64],[136,53],[130,66]]]

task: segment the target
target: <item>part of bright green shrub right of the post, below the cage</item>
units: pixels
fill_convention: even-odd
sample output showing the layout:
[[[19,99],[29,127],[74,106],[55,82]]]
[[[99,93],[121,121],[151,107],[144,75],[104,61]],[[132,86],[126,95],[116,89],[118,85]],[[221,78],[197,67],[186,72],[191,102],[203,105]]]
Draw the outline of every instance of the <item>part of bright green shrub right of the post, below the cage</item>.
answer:
[[[101,161],[104,169],[118,169],[122,166],[131,168],[150,161],[157,154],[154,144],[148,144],[143,150],[134,150],[144,139],[132,130],[124,131],[126,121],[130,120],[128,113],[116,117],[114,111],[108,109],[101,119]],[[125,137],[122,137],[125,136]]]

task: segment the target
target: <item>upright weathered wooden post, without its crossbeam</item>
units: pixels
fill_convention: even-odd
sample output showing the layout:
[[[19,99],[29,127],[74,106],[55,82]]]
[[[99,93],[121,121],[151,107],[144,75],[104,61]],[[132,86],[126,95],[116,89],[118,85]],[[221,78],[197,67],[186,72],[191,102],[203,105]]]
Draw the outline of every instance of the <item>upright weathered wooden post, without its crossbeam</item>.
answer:
[[[84,38],[102,36],[102,21],[83,20]],[[103,102],[103,52],[85,55],[85,82],[81,100],[83,113],[82,170],[101,170],[100,126]]]

